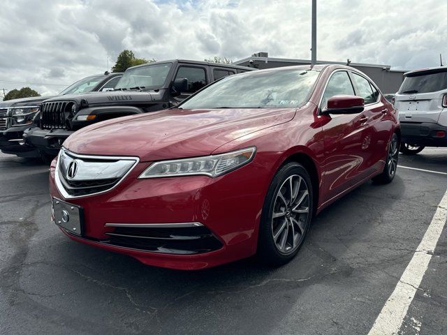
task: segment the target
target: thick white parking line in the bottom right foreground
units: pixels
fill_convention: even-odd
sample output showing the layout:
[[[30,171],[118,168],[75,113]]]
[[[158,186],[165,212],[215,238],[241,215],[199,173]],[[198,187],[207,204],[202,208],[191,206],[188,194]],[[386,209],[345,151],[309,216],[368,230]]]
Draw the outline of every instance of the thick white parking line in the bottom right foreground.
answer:
[[[422,241],[397,283],[393,293],[386,301],[382,311],[374,322],[368,335],[397,334],[404,321],[406,312],[413,301],[420,282],[427,270],[432,253],[444,229],[447,220],[447,192],[444,194],[434,213]]]

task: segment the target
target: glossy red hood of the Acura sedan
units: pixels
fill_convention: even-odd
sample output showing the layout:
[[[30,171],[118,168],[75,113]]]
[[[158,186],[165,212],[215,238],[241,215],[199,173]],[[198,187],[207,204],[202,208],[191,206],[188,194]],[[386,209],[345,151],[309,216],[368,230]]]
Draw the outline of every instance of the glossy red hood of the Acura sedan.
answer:
[[[205,156],[294,116],[295,109],[163,110],[82,128],[64,147],[78,154],[138,156],[141,161]]]

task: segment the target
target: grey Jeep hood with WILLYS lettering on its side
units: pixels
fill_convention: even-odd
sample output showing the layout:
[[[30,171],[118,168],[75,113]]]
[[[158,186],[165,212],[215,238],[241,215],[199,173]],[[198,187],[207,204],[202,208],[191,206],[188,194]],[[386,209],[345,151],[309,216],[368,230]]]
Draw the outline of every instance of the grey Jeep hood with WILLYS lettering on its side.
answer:
[[[129,103],[147,103],[155,101],[161,92],[150,91],[107,91],[107,92],[89,92],[84,94],[66,94],[57,96],[51,101],[86,101],[89,106],[95,105],[129,105]],[[47,102],[47,101],[45,101]]]

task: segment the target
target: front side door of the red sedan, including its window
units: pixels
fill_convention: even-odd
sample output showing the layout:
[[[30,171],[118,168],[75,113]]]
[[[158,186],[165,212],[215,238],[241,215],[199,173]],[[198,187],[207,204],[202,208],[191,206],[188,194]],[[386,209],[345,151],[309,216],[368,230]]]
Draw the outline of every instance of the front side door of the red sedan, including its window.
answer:
[[[355,96],[353,83],[347,70],[335,70],[321,97],[320,109],[329,98],[346,94]],[[326,116],[325,116],[326,117]],[[328,116],[323,125],[325,151],[325,201],[331,200],[365,177],[368,158],[367,117],[365,114]]]

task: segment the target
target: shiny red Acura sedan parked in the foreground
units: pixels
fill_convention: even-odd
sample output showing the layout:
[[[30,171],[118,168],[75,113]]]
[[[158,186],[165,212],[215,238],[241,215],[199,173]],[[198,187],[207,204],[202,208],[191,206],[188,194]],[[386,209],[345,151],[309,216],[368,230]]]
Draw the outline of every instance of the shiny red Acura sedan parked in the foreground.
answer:
[[[393,106],[354,68],[241,73],[170,110],[71,135],[50,169],[52,219],[147,265],[203,269],[256,253],[281,265],[324,207],[393,180],[399,145]]]

